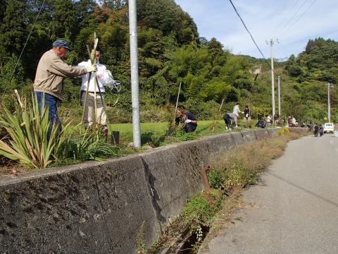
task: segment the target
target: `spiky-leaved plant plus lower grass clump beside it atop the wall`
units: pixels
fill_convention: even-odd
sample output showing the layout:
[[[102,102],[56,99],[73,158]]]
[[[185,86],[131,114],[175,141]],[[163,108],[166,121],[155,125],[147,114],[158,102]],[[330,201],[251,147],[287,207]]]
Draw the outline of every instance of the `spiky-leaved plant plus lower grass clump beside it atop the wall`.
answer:
[[[39,109],[34,97],[32,102],[18,102],[14,113],[4,107],[0,114],[0,124],[8,133],[0,140],[0,155],[32,169],[119,155],[120,149],[106,143],[100,128],[70,128],[69,114],[64,114],[61,127],[49,121],[49,108]]]

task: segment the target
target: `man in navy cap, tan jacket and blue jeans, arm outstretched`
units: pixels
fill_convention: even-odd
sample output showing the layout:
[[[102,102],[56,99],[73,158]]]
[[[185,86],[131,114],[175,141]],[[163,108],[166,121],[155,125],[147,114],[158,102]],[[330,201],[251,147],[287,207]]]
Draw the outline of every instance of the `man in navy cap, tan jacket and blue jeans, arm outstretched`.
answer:
[[[34,81],[34,95],[39,109],[42,108],[44,97],[44,105],[49,107],[48,119],[56,123],[60,123],[57,102],[63,99],[63,78],[78,77],[96,71],[95,65],[79,68],[65,63],[62,59],[67,55],[68,49],[70,48],[67,42],[56,40],[53,48],[42,55]]]

